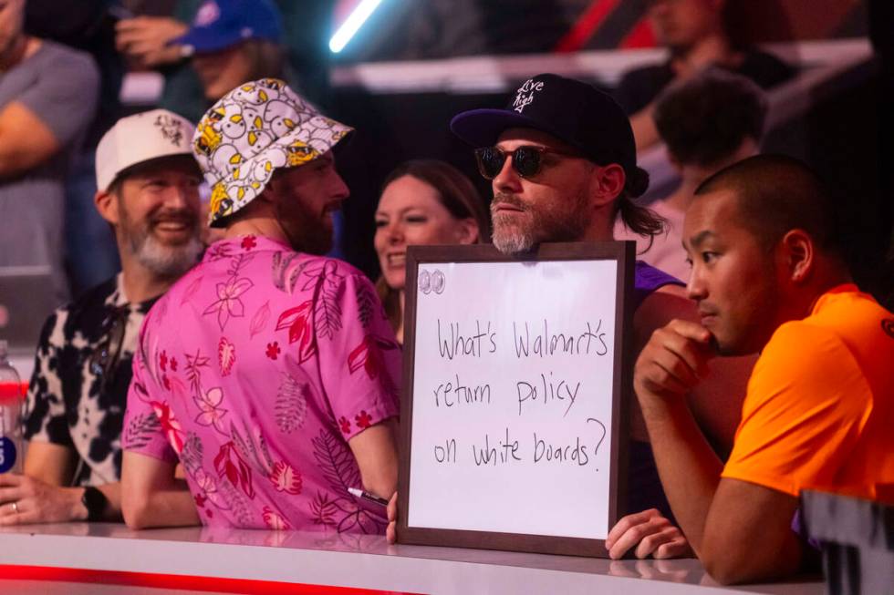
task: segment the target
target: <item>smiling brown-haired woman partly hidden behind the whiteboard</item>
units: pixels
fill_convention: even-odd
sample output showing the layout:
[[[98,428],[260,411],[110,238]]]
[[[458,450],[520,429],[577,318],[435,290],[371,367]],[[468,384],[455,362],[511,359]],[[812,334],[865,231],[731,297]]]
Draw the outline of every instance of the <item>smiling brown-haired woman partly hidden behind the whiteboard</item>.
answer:
[[[472,181],[449,163],[418,159],[391,171],[376,210],[375,247],[381,268],[376,290],[400,344],[407,246],[488,241],[489,228]]]

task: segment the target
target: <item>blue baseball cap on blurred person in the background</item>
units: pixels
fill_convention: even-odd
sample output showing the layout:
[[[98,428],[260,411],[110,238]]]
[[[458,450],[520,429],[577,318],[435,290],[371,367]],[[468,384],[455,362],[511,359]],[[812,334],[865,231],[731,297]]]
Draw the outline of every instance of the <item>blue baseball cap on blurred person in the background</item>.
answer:
[[[190,30],[172,43],[202,54],[246,39],[278,43],[282,37],[283,18],[270,0],[206,0],[199,6]]]

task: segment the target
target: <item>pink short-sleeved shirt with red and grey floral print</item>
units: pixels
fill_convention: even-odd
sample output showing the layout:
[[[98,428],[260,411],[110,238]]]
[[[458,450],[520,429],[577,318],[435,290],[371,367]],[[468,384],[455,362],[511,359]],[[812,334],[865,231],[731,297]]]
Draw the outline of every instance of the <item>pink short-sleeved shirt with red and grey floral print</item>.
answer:
[[[348,439],[398,415],[399,373],[362,273],[218,241],[143,323],[123,446],[182,462],[205,525],[380,533]]]

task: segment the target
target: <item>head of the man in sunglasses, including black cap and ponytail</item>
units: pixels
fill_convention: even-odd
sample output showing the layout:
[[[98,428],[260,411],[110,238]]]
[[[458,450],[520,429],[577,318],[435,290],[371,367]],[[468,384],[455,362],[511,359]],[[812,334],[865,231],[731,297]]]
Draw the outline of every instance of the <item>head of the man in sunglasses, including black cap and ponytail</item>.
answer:
[[[636,165],[629,120],[595,87],[538,75],[505,108],[466,111],[450,126],[476,148],[478,168],[492,180],[500,251],[528,251],[541,241],[611,240],[619,210],[641,235],[663,229],[659,217],[631,200],[648,188],[649,174]]]

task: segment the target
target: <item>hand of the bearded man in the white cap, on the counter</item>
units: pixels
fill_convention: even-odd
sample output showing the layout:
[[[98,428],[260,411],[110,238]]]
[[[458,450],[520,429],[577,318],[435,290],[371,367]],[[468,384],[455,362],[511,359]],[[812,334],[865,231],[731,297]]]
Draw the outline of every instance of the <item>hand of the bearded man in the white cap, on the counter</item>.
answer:
[[[80,487],[51,486],[34,477],[0,474],[0,526],[85,520]]]

